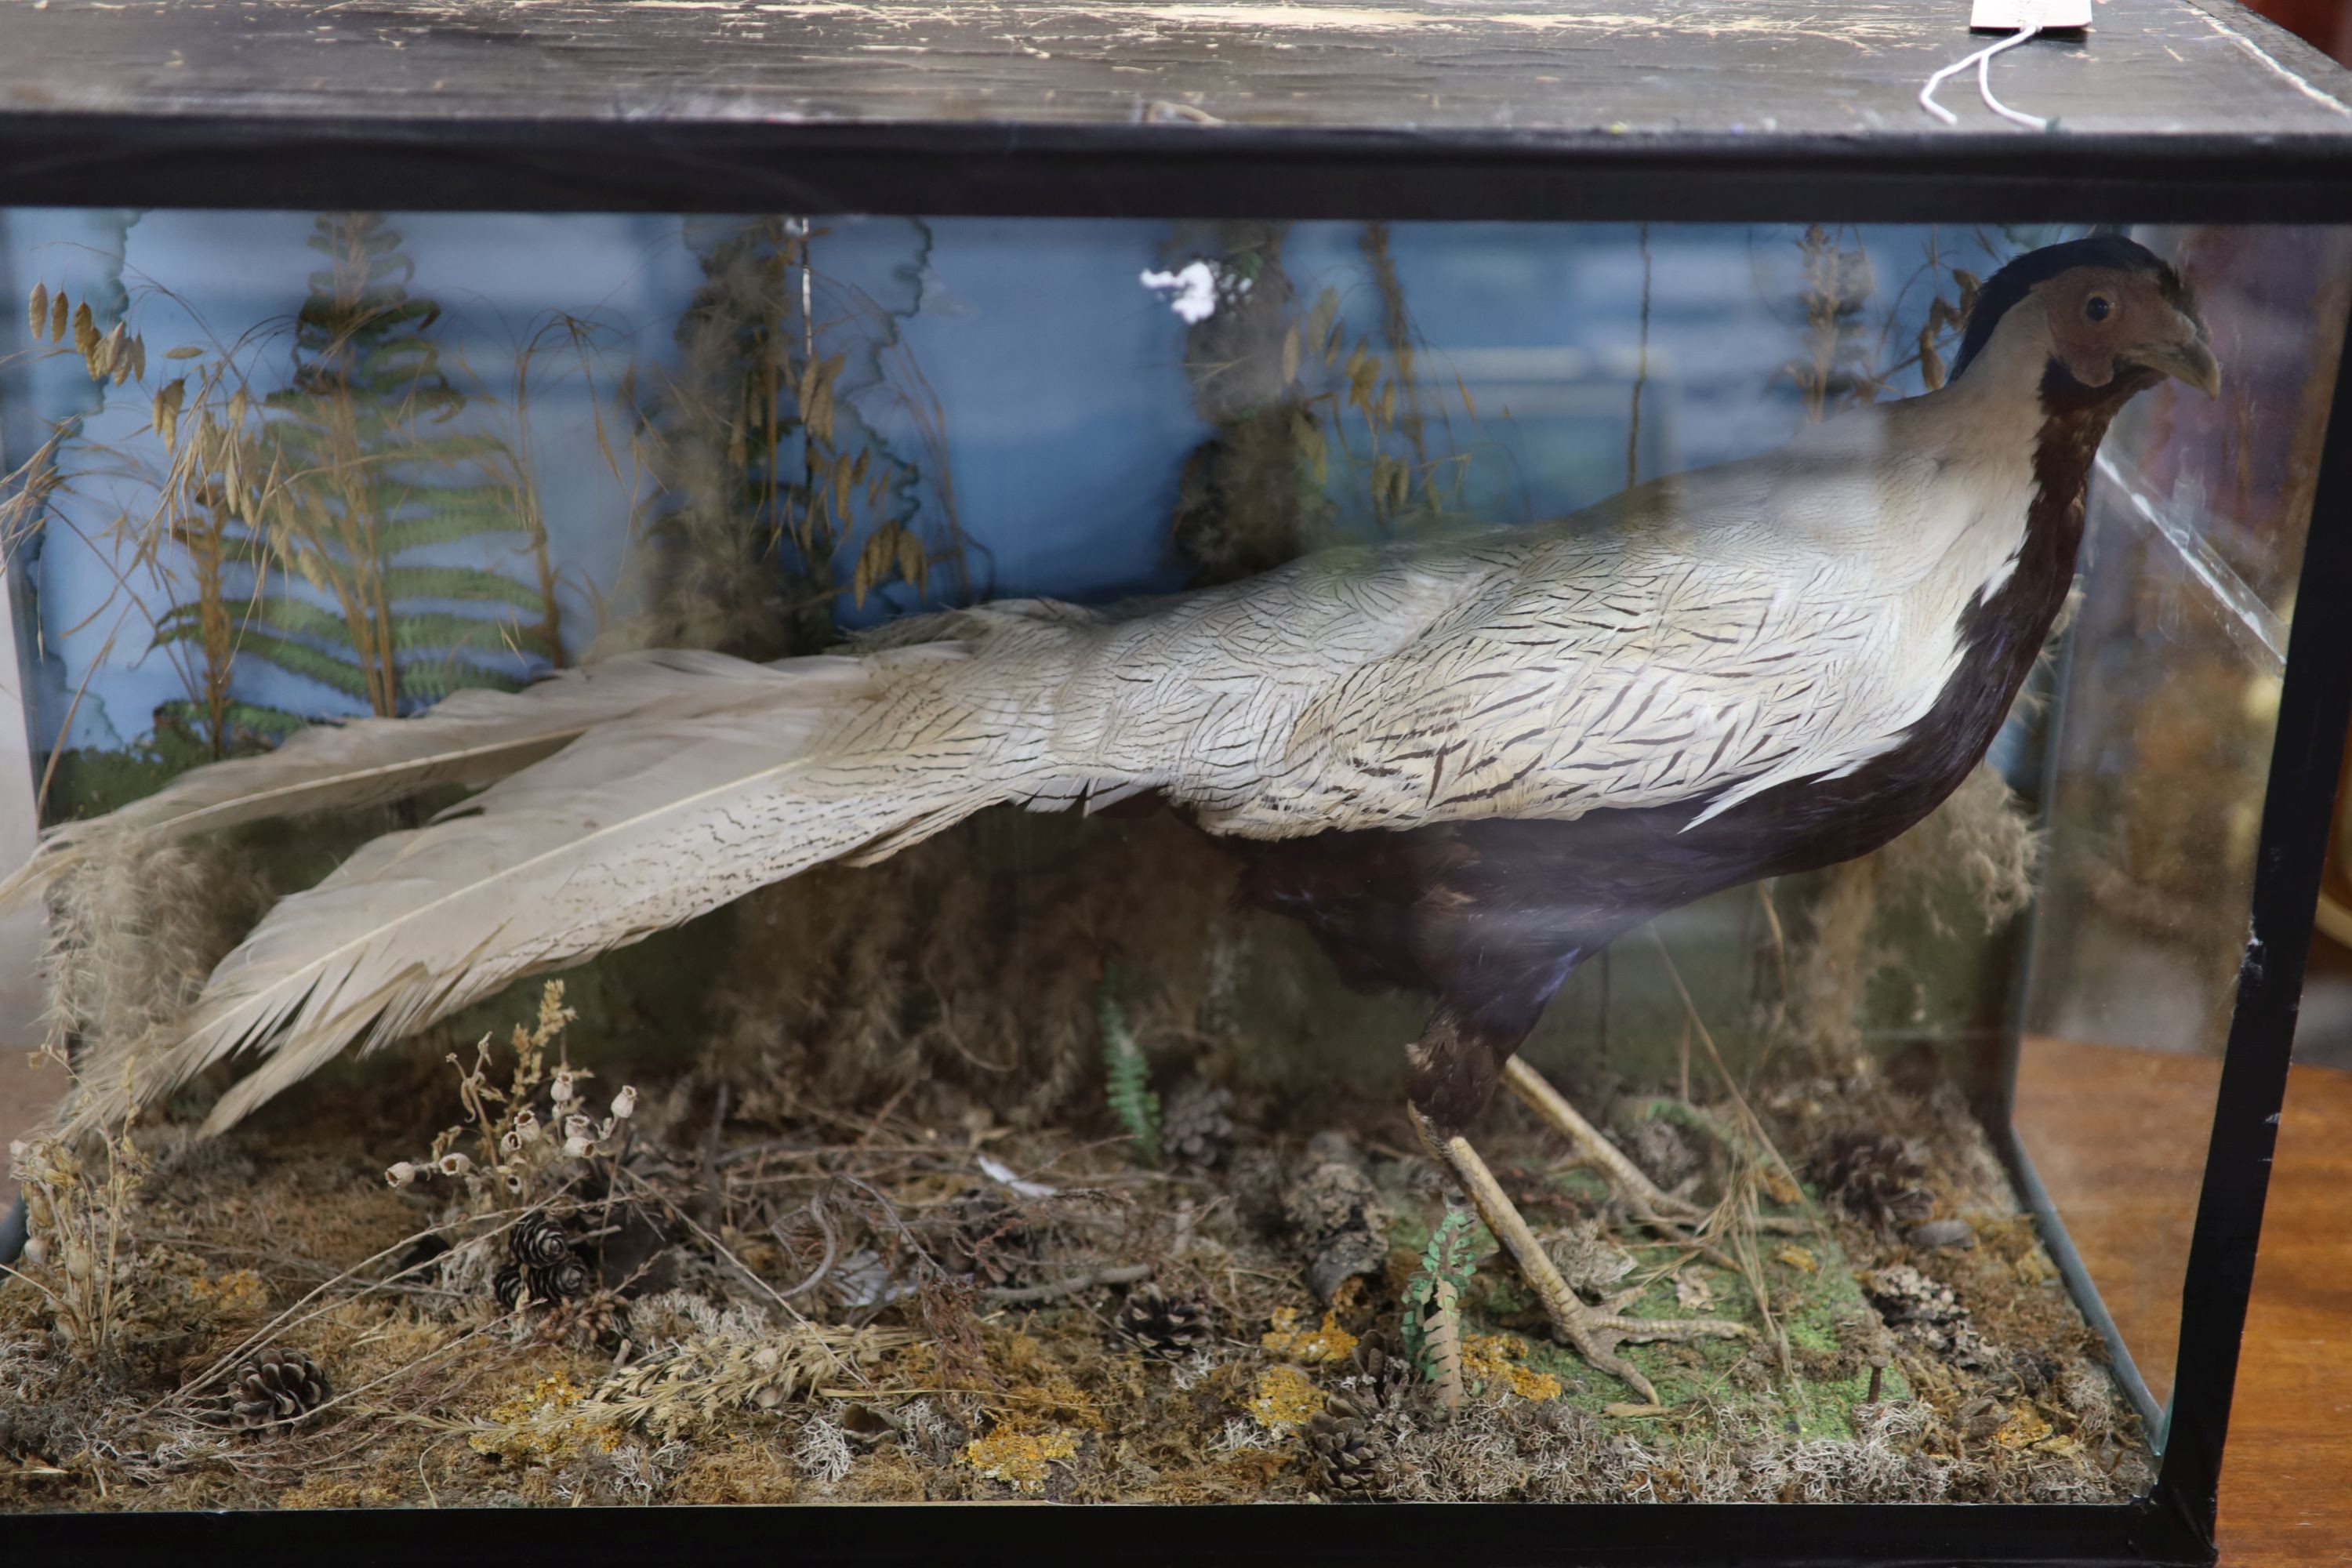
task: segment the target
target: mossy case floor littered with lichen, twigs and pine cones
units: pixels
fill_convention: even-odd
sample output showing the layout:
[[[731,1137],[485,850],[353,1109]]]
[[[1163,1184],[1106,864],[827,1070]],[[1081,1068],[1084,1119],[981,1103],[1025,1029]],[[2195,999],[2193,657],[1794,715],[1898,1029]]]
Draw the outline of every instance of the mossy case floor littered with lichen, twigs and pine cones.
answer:
[[[635,1305],[576,1302],[492,1333],[487,1262],[473,1272],[461,1260],[428,1265],[416,1293],[372,1288],[383,1262],[358,1267],[379,1253],[397,1258],[428,1218],[416,1194],[383,1187],[381,1168],[421,1147],[409,1121],[452,1119],[447,1065],[430,1074],[416,1060],[358,1065],[353,1091],[308,1084],[223,1143],[143,1133],[155,1171],[129,1218],[141,1239],[141,1316],[125,1333],[125,1363],[99,1375],[64,1356],[40,1300],[0,1288],[0,1401],[35,1413],[16,1418],[33,1467],[0,1474],[0,1505],[1296,1500],[1319,1486],[1301,1429],[1327,1396],[1355,1394],[1357,1340],[1395,1335],[1402,1281],[1444,1213],[1392,1110],[1362,1119],[1350,1119],[1357,1105],[1327,1110],[1317,1131],[1338,1126],[1381,1154],[1376,1190],[1395,1253],[1388,1279],[1322,1305],[1305,1288],[1298,1244],[1244,1218],[1235,1173],[1188,1168],[1138,1185],[1108,1119],[1018,1128],[953,1086],[875,1107],[823,1100],[802,1084],[793,1105],[736,1100],[715,1121],[713,1100],[694,1098],[706,1077],[663,1091],[644,1067],[626,1070],[647,1095],[633,1168],[661,1194],[649,1215],[663,1239],[614,1281],[642,1262],[659,1269],[659,1284],[630,1284]],[[1628,1389],[1552,1340],[1510,1262],[1479,1234],[1475,1288],[1463,1298],[1470,1394],[1451,1415],[1414,1401],[1395,1415],[1406,1462],[1388,1495],[2129,1495],[2145,1476],[2145,1448],[2091,1359],[2096,1335],[2044,1284],[2049,1258],[1957,1095],[1759,1086],[1755,1103],[1799,1168],[1858,1124],[1922,1150],[1938,1213],[1971,1218],[1980,1244],[1912,1262],[1957,1293],[2002,1359],[1971,1368],[1898,1345],[1856,1276],[1903,1260],[1900,1241],[1825,1215],[1818,1229],[1757,1239],[1788,1359],[1764,1335],[1628,1345],[1623,1354],[1665,1401],[1663,1413],[1630,1415]],[[1240,1110],[1237,1121],[1237,1157],[1298,1166],[1303,1138],[1277,1117]],[[1762,1328],[1736,1272],[1611,1222],[1581,1173],[1555,1175],[1557,1143],[1529,1119],[1501,1112],[1477,1140],[1538,1232],[1599,1225],[1632,1255],[1625,1279],[1644,1288],[1630,1312]],[[1002,1190],[978,1168],[981,1150],[1051,1197]],[[1719,1168],[1700,1171],[1700,1182],[1717,1178]],[[943,1269],[969,1267],[950,1237],[969,1218],[974,1187],[1004,1201],[990,1225],[1023,1237],[1000,1248],[1018,1269],[1014,1288],[1143,1262],[1157,1286],[1207,1307],[1216,1338],[1178,1363],[1157,1361],[1112,1338],[1122,1307],[1112,1291],[990,1307],[976,1284],[927,1274],[917,1246]],[[706,1208],[713,1192],[717,1204]],[[837,1244],[835,1279],[795,1305],[840,1333],[880,1314],[868,1333],[891,1340],[760,1406],[715,1378],[786,1338],[767,1291],[797,1288],[826,1255],[809,1206],[818,1197]],[[849,1260],[906,1293],[847,1305],[833,1284],[851,1272]],[[195,1467],[155,1458],[165,1441],[207,1441],[195,1427],[155,1425],[181,1420],[169,1406],[176,1387],[313,1291],[322,1272],[353,1267],[294,1335],[336,1387],[369,1389],[362,1408],[334,1418],[348,1425],[247,1441]],[[656,1302],[668,1305],[656,1312]],[[680,1396],[706,1413],[675,1425],[609,1415],[626,1378],[614,1371],[619,1338],[630,1340],[630,1366],[682,1368],[691,1387]],[[710,1354],[689,1359],[687,1345]],[[1889,1352],[1870,1401],[1870,1359]],[[162,1415],[141,1427],[158,1401]],[[583,1413],[590,1401],[602,1401],[595,1418]],[[828,1443],[809,1443],[811,1432],[830,1434]],[[353,1469],[308,1474],[303,1465],[322,1450],[353,1453]]]

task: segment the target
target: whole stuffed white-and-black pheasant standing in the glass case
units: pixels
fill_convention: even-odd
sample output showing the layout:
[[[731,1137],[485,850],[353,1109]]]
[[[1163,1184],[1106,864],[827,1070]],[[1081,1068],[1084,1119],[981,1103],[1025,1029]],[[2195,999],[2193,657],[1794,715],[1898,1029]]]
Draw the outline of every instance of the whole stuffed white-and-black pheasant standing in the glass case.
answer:
[[[811,865],[1004,802],[1155,792],[1348,978],[1435,997],[1409,1048],[1416,1126],[1562,1335],[1651,1396],[1621,1340],[1740,1328],[1585,1305],[1463,1131],[1508,1081],[1637,1208],[1689,1218],[1512,1051],[1618,933],[1867,853],[1959,785],[2065,602],[2107,421],[2161,376],[2209,395],[2220,376],[2180,280],[2131,240],[2074,240],[1985,284],[1945,388],[1562,522],[1129,609],[985,604],[837,656],[640,654],[461,693],[61,827],[14,891],[111,835],[489,785],[282,900],[186,1037],[132,1065],[153,1095],[263,1053],[221,1128],[355,1039]],[[85,1117],[120,1067],[82,1074]]]

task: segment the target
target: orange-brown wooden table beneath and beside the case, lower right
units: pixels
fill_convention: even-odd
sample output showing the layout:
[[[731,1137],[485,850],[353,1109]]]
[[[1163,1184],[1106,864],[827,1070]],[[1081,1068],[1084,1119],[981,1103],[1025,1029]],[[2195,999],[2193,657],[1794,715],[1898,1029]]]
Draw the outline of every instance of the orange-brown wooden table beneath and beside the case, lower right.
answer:
[[[2159,1399],[2220,1063],[2030,1039],[2018,1126]],[[2352,1566],[2352,1074],[2296,1067],[2220,1486],[2227,1568]]]

